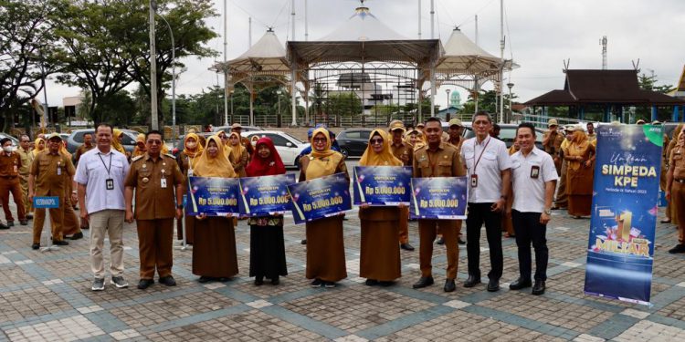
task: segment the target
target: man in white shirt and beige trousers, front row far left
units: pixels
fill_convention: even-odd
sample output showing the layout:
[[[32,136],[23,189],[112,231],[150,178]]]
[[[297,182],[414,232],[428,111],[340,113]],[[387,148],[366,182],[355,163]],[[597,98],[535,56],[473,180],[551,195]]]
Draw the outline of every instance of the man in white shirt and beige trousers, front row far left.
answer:
[[[111,285],[128,287],[123,278],[123,181],[129,173],[129,162],[121,152],[111,148],[113,129],[101,123],[95,131],[97,148],[80,156],[74,181],[78,183],[81,219],[90,224],[90,269],[93,291],[105,289],[105,267],[102,248],[105,232],[110,236]]]

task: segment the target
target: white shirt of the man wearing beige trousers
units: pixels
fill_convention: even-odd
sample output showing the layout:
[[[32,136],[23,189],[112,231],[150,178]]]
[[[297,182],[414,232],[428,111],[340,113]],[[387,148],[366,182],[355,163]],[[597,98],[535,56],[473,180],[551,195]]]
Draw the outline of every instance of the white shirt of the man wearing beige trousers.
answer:
[[[109,153],[101,153],[96,148],[81,155],[74,181],[86,185],[86,209],[89,214],[106,209],[125,209],[123,181],[130,168],[126,156],[113,148]],[[107,190],[108,179],[113,181],[112,190]]]

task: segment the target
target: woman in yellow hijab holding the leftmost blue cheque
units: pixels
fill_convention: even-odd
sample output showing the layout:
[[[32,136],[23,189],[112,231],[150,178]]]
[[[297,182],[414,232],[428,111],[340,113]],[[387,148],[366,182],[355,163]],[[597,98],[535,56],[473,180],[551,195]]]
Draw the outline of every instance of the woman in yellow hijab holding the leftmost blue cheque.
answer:
[[[233,178],[231,163],[224,154],[224,144],[218,137],[207,139],[205,151],[193,165],[197,177]],[[230,215],[229,215],[230,216]],[[199,282],[226,281],[237,275],[236,232],[230,217],[195,217],[193,245],[193,274],[200,275]]]

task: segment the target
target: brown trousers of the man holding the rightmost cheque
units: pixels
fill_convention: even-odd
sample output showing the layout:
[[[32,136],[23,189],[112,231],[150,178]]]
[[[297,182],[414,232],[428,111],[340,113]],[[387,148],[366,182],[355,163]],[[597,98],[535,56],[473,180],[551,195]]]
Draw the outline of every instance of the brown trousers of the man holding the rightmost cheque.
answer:
[[[421,276],[432,276],[433,242],[436,240],[439,227],[445,239],[448,252],[448,279],[457,278],[459,244],[457,242],[461,230],[460,220],[418,220],[419,252],[418,260],[421,266]]]

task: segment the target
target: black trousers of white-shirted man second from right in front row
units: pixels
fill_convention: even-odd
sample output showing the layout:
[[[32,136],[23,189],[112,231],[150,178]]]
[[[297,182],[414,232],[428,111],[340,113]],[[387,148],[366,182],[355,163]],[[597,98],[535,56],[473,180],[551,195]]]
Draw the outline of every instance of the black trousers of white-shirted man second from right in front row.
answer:
[[[501,253],[501,212],[492,212],[492,203],[469,203],[466,217],[466,250],[469,257],[469,275],[480,276],[480,227],[485,223],[485,233],[490,247],[490,279],[500,280],[503,257]]]

